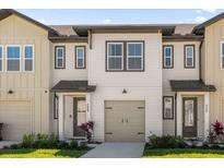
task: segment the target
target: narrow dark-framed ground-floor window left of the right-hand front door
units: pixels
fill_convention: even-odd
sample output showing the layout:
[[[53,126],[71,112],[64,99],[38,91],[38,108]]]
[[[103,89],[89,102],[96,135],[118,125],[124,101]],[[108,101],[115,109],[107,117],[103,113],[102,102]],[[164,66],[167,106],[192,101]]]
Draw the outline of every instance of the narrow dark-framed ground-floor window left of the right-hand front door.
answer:
[[[174,119],[174,97],[173,96],[163,97],[163,119],[164,120]]]

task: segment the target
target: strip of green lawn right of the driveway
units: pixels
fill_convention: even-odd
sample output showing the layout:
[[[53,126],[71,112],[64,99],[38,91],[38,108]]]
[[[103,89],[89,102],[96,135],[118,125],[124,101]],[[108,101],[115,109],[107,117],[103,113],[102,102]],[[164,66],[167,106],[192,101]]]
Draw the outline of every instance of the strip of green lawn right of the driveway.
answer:
[[[144,158],[224,158],[224,149],[145,148]]]

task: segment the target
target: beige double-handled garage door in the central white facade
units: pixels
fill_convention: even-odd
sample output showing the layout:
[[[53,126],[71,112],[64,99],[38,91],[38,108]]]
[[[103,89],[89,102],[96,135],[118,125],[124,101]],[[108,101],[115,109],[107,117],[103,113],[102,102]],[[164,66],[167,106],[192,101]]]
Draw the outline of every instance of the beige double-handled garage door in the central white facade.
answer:
[[[144,141],[144,101],[105,101],[105,140]]]

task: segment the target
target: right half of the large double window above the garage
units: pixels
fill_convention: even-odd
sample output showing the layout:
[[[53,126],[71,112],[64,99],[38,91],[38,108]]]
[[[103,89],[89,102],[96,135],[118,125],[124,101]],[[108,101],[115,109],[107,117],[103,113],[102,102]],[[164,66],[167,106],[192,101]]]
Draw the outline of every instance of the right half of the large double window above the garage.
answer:
[[[127,43],[127,70],[143,70],[142,43]]]

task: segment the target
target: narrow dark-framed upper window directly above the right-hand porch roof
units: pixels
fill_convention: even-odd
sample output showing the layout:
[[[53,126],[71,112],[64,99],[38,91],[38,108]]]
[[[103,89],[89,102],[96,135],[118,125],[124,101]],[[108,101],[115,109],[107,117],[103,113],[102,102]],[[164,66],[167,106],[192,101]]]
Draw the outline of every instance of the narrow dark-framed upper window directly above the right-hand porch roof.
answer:
[[[194,45],[185,45],[185,68],[194,68]]]

